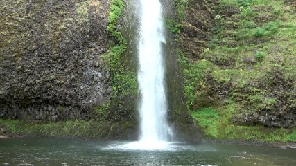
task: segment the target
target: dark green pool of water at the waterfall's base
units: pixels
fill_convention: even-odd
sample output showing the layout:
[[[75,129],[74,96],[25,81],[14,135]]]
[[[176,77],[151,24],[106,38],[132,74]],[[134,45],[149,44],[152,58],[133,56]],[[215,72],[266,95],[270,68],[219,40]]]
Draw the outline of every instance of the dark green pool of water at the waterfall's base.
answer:
[[[132,142],[52,138],[0,140],[0,165],[295,165],[296,149],[250,145],[189,145],[129,149]]]

